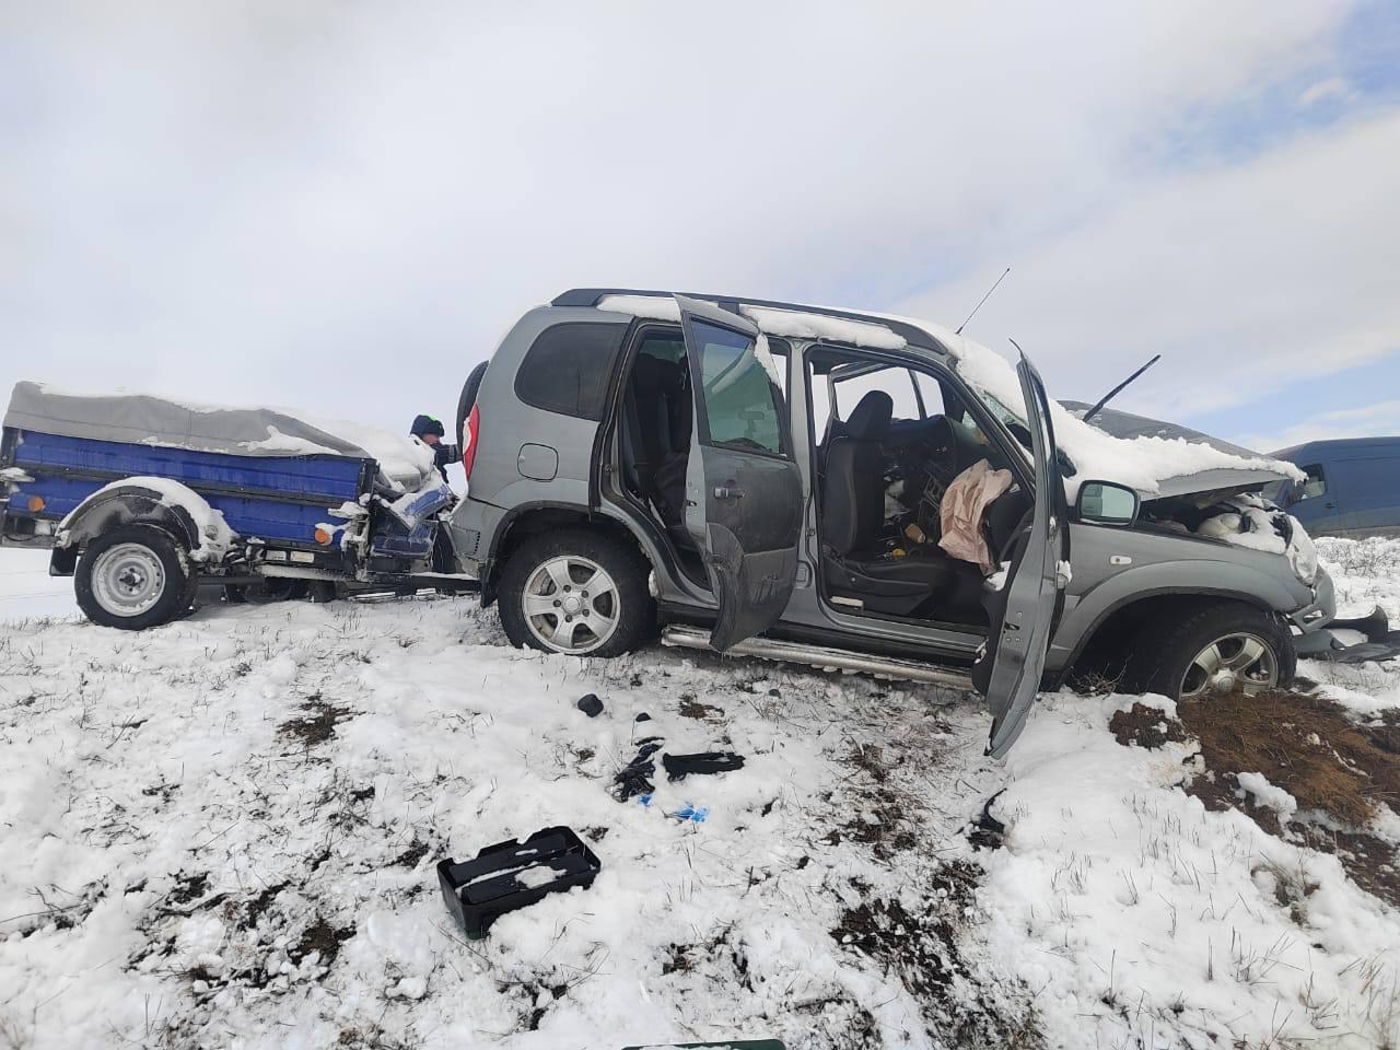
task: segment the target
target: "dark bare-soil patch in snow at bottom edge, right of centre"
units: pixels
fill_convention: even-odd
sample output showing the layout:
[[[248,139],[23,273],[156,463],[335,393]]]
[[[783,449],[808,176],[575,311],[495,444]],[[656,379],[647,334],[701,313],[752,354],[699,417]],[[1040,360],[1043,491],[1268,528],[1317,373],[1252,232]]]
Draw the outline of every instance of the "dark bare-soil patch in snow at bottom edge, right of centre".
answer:
[[[931,892],[920,895],[917,909],[897,899],[864,900],[843,913],[832,937],[896,976],[951,1046],[1042,1046],[1033,1015],[1002,1016],[958,990],[959,979],[977,986],[958,938],[979,876],[976,865],[949,864],[934,878]]]

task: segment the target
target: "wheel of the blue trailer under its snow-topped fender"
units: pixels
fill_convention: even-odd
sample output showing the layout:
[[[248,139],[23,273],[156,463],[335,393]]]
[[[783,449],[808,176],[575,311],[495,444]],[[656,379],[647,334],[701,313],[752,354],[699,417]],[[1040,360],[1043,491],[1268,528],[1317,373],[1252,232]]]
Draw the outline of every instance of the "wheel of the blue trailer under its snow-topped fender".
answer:
[[[94,539],[78,559],[78,608],[104,627],[139,631],[183,616],[197,574],[175,540],[151,525],[123,525]]]

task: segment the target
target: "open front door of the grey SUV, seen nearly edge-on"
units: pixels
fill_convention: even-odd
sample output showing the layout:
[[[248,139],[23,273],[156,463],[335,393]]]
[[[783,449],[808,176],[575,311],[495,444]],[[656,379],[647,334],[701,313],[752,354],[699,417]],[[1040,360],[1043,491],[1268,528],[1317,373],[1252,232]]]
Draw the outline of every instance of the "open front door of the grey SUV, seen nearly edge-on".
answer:
[[[1064,480],[1050,421],[1050,399],[1040,374],[1025,354],[1016,364],[1016,374],[1035,455],[1036,503],[1030,526],[1012,546],[1008,580],[987,602],[987,651],[972,673],[973,685],[987,697],[991,710],[987,753],[997,759],[1011,750],[1030,714],[1063,605],[1061,592],[1068,584],[1061,568],[1061,561],[1068,564],[1070,556]]]

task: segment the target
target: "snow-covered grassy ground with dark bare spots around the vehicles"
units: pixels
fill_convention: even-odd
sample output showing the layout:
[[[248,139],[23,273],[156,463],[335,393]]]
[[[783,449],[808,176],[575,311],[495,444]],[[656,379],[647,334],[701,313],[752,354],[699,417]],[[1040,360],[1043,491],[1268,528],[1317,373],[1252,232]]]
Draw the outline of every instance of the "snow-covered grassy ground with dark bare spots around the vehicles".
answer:
[[[1400,543],[1319,546],[1344,613],[1400,622]],[[1358,717],[1400,707],[1400,671],[1302,672]],[[1046,696],[998,764],[959,694],[545,658],[472,599],[214,606],[133,636],[6,554],[0,1047],[1400,1043],[1400,911],[1207,811],[1191,741],[1109,731],[1131,704]],[[650,805],[619,802],[645,736],[746,764],[672,784],[658,763]],[[701,823],[668,815],[687,802]],[[463,941],[435,861],[560,823],[599,855],[592,888]]]

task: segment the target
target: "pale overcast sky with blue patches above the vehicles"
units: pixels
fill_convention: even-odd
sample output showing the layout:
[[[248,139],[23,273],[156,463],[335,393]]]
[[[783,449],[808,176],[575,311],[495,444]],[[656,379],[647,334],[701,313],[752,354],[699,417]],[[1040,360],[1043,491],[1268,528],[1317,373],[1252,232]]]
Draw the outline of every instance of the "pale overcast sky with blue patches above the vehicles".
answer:
[[[0,384],[451,417],[571,286],[1400,433],[1400,4],[0,4]]]

